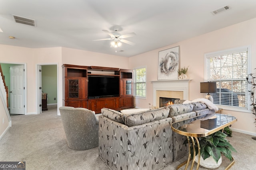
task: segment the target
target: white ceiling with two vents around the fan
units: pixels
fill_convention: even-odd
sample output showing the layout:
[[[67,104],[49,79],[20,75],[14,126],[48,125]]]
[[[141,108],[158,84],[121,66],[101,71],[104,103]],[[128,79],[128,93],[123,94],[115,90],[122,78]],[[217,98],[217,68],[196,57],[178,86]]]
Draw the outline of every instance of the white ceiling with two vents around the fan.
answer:
[[[229,10],[211,12],[230,6]],[[13,15],[35,20],[16,23]],[[256,0],[0,0],[0,44],[68,47],[131,57],[256,18]],[[110,48],[110,32],[136,33]],[[16,39],[9,39],[9,36]],[[122,52],[120,52],[123,50]]]

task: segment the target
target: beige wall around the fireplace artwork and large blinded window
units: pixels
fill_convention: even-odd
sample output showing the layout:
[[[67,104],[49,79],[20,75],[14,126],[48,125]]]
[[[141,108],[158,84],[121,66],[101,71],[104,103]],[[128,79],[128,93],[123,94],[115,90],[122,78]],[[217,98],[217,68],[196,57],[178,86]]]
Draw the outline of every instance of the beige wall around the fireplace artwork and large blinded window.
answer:
[[[137,98],[136,106],[148,108],[148,103],[153,103],[153,90],[150,81],[158,79],[158,51],[164,49],[180,46],[180,67],[189,66],[187,75],[192,79],[189,83],[189,100],[204,98],[205,94],[200,93],[200,82],[204,82],[204,54],[206,53],[251,45],[252,73],[256,73],[254,70],[256,68],[255,30],[256,18],[130,57],[131,68],[146,66],[147,70],[146,100]],[[255,115],[228,110],[224,110],[223,113],[232,114],[238,118],[238,121],[232,125],[236,131],[256,135]]]

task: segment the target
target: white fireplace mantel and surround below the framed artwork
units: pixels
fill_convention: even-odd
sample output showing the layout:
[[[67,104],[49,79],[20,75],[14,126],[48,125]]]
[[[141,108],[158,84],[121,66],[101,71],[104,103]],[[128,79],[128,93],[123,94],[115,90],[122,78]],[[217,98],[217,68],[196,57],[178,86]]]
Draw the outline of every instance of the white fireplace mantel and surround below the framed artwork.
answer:
[[[156,91],[182,91],[183,100],[188,100],[188,83],[190,79],[157,80],[153,84],[153,106],[156,106]]]

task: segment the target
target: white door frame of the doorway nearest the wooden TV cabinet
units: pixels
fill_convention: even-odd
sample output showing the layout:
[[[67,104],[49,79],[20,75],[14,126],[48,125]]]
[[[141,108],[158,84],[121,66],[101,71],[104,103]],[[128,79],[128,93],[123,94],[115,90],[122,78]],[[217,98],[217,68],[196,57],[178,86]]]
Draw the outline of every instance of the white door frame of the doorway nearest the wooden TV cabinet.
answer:
[[[36,64],[36,114],[40,114],[42,113],[42,107],[40,108],[40,104],[42,103],[41,99],[42,99],[42,90],[39,89],[40,84],[42,82],[42,76],[39,72],[39,68],[41,68],[41,66],[45,66],[45,65],[56,65],[57,66],[57,108],[59,108],[59,65],[58,63],[44,63],[44,64]],[[58,111],[57,111],[57,115],[58,115]]]

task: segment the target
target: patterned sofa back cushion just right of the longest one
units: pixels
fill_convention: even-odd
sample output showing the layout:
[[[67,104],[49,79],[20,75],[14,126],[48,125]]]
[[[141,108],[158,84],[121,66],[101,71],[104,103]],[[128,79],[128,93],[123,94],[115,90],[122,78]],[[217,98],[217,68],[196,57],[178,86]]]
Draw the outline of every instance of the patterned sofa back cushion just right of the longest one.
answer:
[[[193,110],[193,104],[172,104],[168,106],[170,108],[169,117],[188,113]]]

